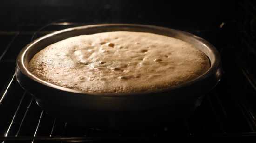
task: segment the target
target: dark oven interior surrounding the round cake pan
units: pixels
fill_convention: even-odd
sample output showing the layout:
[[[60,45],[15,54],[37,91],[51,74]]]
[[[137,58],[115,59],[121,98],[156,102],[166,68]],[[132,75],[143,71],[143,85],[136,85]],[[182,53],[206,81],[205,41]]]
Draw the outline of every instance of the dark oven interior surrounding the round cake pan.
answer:
[[[12,5],[10,1],[16,3]],[[196,8],[206,12],[195,11],[192,12],[194,17],[187,15],[182,19],[170,14],[181,8],[179,4],[182,2],[168,5],[170,9],[175,9],[169,10],[163,3],[147,3],[145,0],[77,0],[77,3],[70,0],[64,0],[65,3],[60,3],[60,0],[39,0],[38,4],[31,0],[25,4],[10,1],[0,2],[1,13],[18,8],[14,14],[0,17],[7,21],[0,28],[0,142],[256,142],[256,2],[240,0],[232,3],[226,0],[222,3],[202,2],[196,6],[188,2],[185,12]],[[209,5],[213,6],[207,10],[204,6]],[[32,12],[24,10],[31,6]],[[164,8],[161,9],[161,6]],[[219,7],[219,11],[211,12],[214,6]],[[44,7],[52,9],[43,10]],[[158,12],[152,11],[155,8]],[[235,12],[233,16],[230,16],[231,11]],[[19,12],[23,13],[19,15]],[[22,17],[23,14],[29,16]],[[102,23],[158,25],[202,37],[221,54],[222,79],[205,95],[195,111],[164,126],[96,130],[77,127],[51,117],[16,81],[14,73],[18,53],[31,41],[48,33]]]

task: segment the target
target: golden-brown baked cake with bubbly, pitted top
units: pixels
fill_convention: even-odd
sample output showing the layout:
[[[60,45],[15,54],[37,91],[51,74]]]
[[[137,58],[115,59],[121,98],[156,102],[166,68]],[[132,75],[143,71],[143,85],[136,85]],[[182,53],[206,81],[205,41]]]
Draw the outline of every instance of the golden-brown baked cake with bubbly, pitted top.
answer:
[[[210,68],[207,56],[172,37],[116,31],[51,44],[28,70],[49,83],[96,93],[132,93],[175,87]]]

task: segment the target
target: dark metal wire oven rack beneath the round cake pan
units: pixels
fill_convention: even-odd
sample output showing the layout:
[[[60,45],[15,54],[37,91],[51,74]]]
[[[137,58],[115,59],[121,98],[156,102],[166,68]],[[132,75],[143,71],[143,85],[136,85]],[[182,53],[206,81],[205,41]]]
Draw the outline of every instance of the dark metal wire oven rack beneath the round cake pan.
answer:
[[[20,25],[17,31],[0,31],[0,142],[184,143],[195,140],[203,143],[255,143],[256,80],[252,63],[248,61],[256,62],[256,44],[243,27],[239,29],[238,24],[231,23],[223,23],[221,30],[187,30],[213,44],[214,40],[207,39],[206,33],[220,32],[224,39],[218,48],[224,67],[223,77],[194,112],[166,126],[118,131],[81,128],[51,117],[15,79],[16,57],[31,39],[88,23],[52,23],[40,31],[36,30],[41,25]],[[238,31],[233,34],[235,37],[225,35],[230,29]],[[234,42],[234,39],[238,40]]]

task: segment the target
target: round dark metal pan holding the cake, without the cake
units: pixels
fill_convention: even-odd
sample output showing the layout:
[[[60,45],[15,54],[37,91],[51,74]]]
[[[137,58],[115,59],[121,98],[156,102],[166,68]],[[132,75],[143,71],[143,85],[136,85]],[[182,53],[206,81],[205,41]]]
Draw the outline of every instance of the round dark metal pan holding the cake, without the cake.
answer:
[[[211,67],[204,75],[180,86],[138,93],[68,89],[42,81],[27,70],[32,57],[50,44],[69,37],[110,31],[149,32],[180,39],[208,56]],[[221,58],[212,44],[187,32],[151,25],[103,24],[57,31],[28,44],[20,51],[16,63],[17,81],[45,112],[70,124],[97,129],[168,124],[195,110],[221,76]]]

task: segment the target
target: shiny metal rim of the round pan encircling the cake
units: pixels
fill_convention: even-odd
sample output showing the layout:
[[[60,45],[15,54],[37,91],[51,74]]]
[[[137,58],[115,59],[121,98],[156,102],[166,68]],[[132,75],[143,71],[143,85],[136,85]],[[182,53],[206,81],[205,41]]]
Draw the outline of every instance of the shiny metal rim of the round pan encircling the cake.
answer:
[[[33,42],[31,42],[30,44],[28,44],[26,47],[24,47],[21,51],[20,51],[20,54],[19,56],[17,57],[17,68],[19,68],[19,70],[24,74],[24,75],[27,75],[28,77],[32,78],[33,80],[37,81],[37,82],[40,82],[41,84],[44,84],[44,85],[47,85],[47,86],[50,86],[50,87],[53,87],[53,88],[56,88],[56,89],[59,89],[59,90],[64,90],[64,91],[67,91],[67,92],[72,92],[72,93],[79,93],[79,94],[85,94],[85,95],[93,95],[93,96],[132,96],[132,95],[145,95],[145,94],[151,94],[151,93],[161,93],[161,92],[168,92],[170,90],[175,90],[177,88],[182,88],[182,87],[186,87],[190,84],[193,84],[197,81],[200,81],[202,79],[205,78],[205,76],[209,76],[211,74],[214,74],[214,72],[216,70],[218,70],[219,66],[220,66],[220,63],[221,63],[221,59],[220,59],[220,56],[219,56],[219,53],[217,52],[217,50],[215,49],[215,47],[213,45],[211,45],[209,42],[207,42],[206,40],[200,38],[200,37],[197,37],[193,34],[190,34],[190,33],[187,33],[187,32],[184,32],[184,31],[179,31],[180,33],[182,34],[185,34],[185,35],[188,35],[188,36],[191,36],[193,38],[195,38],[196,40],[198,40],[199,42],[201,42],[202,44],[205,44],[207,47],[209,47],[211,50],[213,50],[213,52],[215,53],[215,63],[213,63],[211,65],[211,67],[209,68],[209,70],[201,75],[200,77],[196,78],[195,80],[193,81],[189,81],[187,83],[184,83],[182,85],[178,85],[178,86],[175,86],[175,87],[168,87],[168,88],[163,88],[163,89],[159,89],[159,90],[153,90],[153,91],[146,91],[146,92],[137,92],[137,93],[91,93],[91,92],[86,92],[86,91],[79,91],[79,90],[75,90],[75,89],[69,89],[69,88],[65,88],[65,87],[60,87],[60,86],[57,86],[57,85],[54,85],[54,84],[51,84],[51,83],[48,83],[47,81],[43,81],[39,78],[37,78],[36,76],[32,75],[28,70],[27,70],[27,67],[25,67],[24,65],[24,59],[25,59],[25,55],[27,53],[27,50],[29,50],[29,48],[31,48],[34,44],[38,43],[38,42],[41,42],[43,41],[45,38],[47,37],[52,37],[54,35],[57,35],[57,34],[61,34],[61,33],[64,33],[64,32],[70,32],[70,31],[77,31],[77,30],[80,30],[80,29],[84,29],[84,28],[92,28],[92,27],[107,27],[107,26],[141,26],[141,27],[150,27],[150,28],[160,28],[160,29],[166,29],[166,30],[174,30],[174,31],[178,31],[178,30],[175,30],[175,29],[170,29],[170,28],[165,28],[165,27],[159,27],[159,26],[152,26],[152,25],[136,25],[136,24],[102,24],[102,25],[87,25],[87,26],[80,26],[80,27],[74,27],[74,28],[69,28],[69,29],[64,29],[64,30],[61,30],[61,31],[56,31],[54,33],[50,33],[50,34],[47,34],[43,37],[40,37],[36,40],[34,40]],[[212,62],[212,61],[211,61]]]

